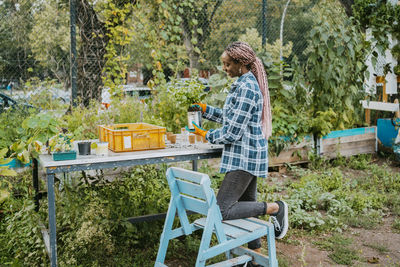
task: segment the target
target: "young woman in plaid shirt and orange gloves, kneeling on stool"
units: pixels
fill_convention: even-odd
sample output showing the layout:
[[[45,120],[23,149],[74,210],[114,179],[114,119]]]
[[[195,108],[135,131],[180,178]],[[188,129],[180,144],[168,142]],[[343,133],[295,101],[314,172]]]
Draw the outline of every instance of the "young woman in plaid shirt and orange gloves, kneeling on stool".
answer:
[[[203,117],[222,124],[206,131],[195,125],[195,134],[212,144],[224,144],[220,172],[226,173],[218,191],[217,203],[224,220],[269,214],[275,237],[281,239],[288,229],[288,207],[284,201],[257,202],[257,177],[268,175],[268,137],[272,118],[268,83],[261,60],[244,42],[230,44],[221,56],[223,70],[239,77],[231,86],[223,109],[204,103]],[[261,251],[260,239],[249,248]]]

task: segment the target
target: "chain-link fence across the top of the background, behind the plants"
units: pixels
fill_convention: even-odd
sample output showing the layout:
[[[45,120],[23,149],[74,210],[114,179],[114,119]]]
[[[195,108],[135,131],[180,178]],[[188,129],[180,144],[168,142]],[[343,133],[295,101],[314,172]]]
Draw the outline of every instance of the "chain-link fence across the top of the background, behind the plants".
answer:
[[[92,90],[89,90],[89,87],[98,89],[103,86],[101,77],[104,75],[104,54],[109,41],[101,10],[94,6],[94,3],[99,1],[75,0],[75,8],[70,9],[72,1],[74,0],[0,0],[1,89],[7,89],[10,83],[13,83],[15,88],[22,89],[26,81],[35,77],[41,81],[55,79],[66,90],[70,90],[73,82],[70,21],[71,15],[75,14],[78,92],[87,91],[89,97],[98,98],[99,94],[90,93]],[[192,64],[188,56],[183,71],[178,76],[187,76],[188,73],[185,73],[184,69],[195,67],[203,71],[200,72],[201,76],[207,78],[221,64],[220,55],[225,47],[237,40],[248,42],[257,53],[268,51],[276,60],[282,59],[290,63],[296,56],[299,62],[304,62],[306,58],[303,52],[307,49],[309,32],[315,25],[318,10],[323,8],[321,5],[318,6],[319,2],[318,0],[199,1],[198,5],[202,5],[199,10],[203,13],[196,13],[199,24],[194,29],[202,29],[202,34],[206,37],[201,40],[201,45],[198,45],[201,56],[195,59],[198,60],[196,64]],[[341,8],[338,1],[324,2]],[[133,14],[130,14],[133,17],[131,21],[133,24],[138,23],[135,12],[141,12],[139,7],[133,9]],[[202,14],[206,16],[203,19]],[[181,17],[184,18],[185,14]],[[326,19],[328,23],[335,23],[335,14]],[[183,22],[179,25],[182,28],[181,45],[183,53],[189,55],[190,45],[185,43]],[[130,60],[127,61],[126,81],[137,85],[145,84],[151,76],[151,69],[146,68],[145,64],[151,60],[151,55],[143,53],[148,51],[148,48],[141,47],[140,42],[135,40],[139,35],[140,32],[135,34],[132,43],[126,44],[123,49],[131,53]],[[135,51],[142,54],[135,54]],[[169,62],[174,60],[174,55],[171,54]],[[177,75],[168,68],[165,72],[167,76]],[[95,91],[98,91],[97,89]]]

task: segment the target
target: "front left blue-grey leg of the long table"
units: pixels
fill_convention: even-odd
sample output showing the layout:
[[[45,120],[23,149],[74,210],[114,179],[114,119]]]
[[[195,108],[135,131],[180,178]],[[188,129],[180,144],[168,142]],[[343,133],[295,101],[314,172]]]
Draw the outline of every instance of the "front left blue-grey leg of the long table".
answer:
[[[54,194],[54,174],[47,174],[47,200],[49,202],[50,260],[51,260],[51,267],[56,267],[57,241],[56,241],[56,201]]]

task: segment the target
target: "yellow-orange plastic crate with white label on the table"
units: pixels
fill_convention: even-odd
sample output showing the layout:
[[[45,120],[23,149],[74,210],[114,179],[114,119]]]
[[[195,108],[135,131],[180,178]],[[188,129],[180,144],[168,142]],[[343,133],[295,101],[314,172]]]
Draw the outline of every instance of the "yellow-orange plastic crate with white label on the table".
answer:
[[[114,152],[165,148],[165,127],[148,123],[99,125],[99,139]]]

